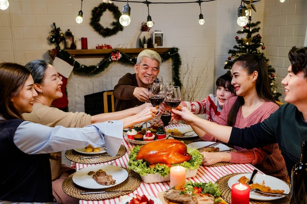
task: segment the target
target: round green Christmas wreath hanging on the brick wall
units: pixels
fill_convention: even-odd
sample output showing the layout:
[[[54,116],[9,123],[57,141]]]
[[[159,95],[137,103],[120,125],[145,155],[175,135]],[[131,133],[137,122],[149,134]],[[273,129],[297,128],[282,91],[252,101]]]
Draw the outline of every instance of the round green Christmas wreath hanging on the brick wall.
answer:
[[[100,18],[102,17],[103,13],[106,10],[109,10],[113,13],[114,19],[116,21],[112,22],[111,25],[113,28],[103,27],[102,24],[100,24]],[[95,7],[92,10],[92,17],[91,17],[91,23],[90,25],[93,27],[93,29],[98,32],[102,37],[108,37],[115,35],[118,33],[118,31],[123,30],[123,26],[119,23],[119,18],[121,17],[121,12],[118,9],[118,7],[114,3],[101,3],[99,6]]]

